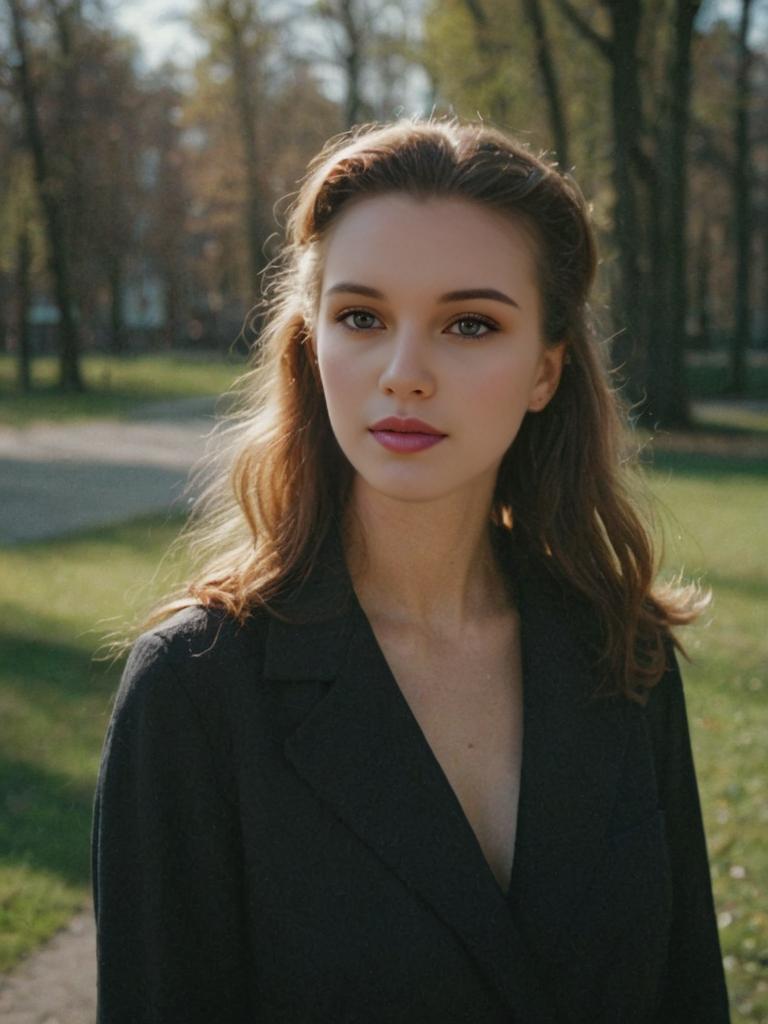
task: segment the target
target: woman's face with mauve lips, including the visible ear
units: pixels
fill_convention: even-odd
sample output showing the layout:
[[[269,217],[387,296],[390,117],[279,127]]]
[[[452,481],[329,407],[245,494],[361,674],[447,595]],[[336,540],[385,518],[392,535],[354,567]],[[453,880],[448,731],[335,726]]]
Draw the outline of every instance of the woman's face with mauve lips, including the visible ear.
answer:
[[[398,194],[358,201],[332,226],[314,345],[339,445],[361,481],[403,501],[493,494],[563,356],[542,339],[522,228],[469,201]],[[374,429],[390,417],[440,439],[408,423]]]

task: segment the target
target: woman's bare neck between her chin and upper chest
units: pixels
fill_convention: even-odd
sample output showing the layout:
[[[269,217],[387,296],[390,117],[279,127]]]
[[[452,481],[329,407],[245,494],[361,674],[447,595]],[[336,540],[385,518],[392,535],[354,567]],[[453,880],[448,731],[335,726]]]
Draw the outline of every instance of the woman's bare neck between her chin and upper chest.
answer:
[[[489,516],[490,495],[479,487],[433,502],[402,502],[356,477],[345,554],[369,618],[456,638],[508,610]]]

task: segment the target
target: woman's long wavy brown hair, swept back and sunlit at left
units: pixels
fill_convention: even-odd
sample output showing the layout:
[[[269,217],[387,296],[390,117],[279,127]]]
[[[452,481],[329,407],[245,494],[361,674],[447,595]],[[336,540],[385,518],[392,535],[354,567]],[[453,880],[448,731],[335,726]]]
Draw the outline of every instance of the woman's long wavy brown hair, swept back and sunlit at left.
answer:
[[[289,210],[268,268],[253,366],[237,386],[216,474],[182,534],[191,582],[143,624],[198,604],[245,621],[311,571],[343,519],[353,470],[328,418],[310,344],[324,240],[353,200],[400,193],[459,198],[529,227],[546,344],[566,343],[558,389],[526,414],[498,473],[490,517],[594,609],[598,693],[643,702],[660,678],[671,627],[706,603],[698,589],[655,584],[657,552],[637,502],[626,410],[591,324],[597,255],[573,179],[485,124],[402,120],[331,139]]]

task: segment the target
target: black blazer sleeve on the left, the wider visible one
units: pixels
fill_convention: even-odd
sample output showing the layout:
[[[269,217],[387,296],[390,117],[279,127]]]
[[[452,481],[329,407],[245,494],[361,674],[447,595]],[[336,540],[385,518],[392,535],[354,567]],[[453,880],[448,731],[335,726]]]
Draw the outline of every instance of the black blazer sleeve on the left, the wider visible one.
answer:
[[[131,651],[96,786],[98,1024],[254,1024],[233,786],[168,642]]]

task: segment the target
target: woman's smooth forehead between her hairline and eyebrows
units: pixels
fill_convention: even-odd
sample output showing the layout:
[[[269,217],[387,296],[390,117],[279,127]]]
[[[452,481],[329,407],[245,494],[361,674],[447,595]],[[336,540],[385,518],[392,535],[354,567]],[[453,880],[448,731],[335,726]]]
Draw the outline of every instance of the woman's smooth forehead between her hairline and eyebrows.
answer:
[[[529,229],[463,199],[386,195],[354,201],[325,242],[324,287],[355,281],[387,290],[536,287]]]

